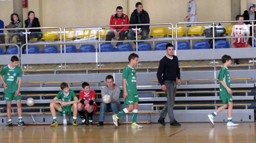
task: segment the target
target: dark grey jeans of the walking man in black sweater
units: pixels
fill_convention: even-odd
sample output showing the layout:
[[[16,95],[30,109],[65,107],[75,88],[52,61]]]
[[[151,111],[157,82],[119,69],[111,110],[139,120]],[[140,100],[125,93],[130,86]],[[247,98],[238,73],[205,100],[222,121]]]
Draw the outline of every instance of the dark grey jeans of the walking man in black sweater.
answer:
[[[175,96],[176,96],[176,87],[177,82],[176,81],[164,81],[164,85],[166,86],[166,98],[167,102],[164,105],[159,119],[164,119],[166,117],[166,114],[168,112],[170,123],[172,123],[174,118],[174,102],[175,102]]]

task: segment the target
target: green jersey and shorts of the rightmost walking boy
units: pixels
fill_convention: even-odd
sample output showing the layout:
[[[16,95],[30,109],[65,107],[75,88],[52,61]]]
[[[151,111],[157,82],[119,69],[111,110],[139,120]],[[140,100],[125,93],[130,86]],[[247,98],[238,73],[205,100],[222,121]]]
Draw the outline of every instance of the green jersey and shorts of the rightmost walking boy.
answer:
[[[221,67],[218,79],[219,81],[223,81],[227,85],[227,87],[230,88],[228,68],[224,66]],[[220,100],[226,99],[227,96],[231,96],[231,94],[228,94],[227,89],[220,83]]]

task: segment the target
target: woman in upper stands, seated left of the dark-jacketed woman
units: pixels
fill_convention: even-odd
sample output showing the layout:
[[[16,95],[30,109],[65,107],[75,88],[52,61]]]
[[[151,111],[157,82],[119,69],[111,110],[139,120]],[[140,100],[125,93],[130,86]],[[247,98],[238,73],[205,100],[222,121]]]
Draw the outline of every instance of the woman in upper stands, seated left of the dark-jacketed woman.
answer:
[[[22,22],[19,21],[18,15],[16,13],[11,14],[11,22],[6,28],[22,28]],[[18,43],[18,39],[20,38],[20,30],[8,30],[8,34],[5,36],[5,43],[9,44],[9,40],[12,39],[14,44]],[[6,50],[9,45],[6,45]]]

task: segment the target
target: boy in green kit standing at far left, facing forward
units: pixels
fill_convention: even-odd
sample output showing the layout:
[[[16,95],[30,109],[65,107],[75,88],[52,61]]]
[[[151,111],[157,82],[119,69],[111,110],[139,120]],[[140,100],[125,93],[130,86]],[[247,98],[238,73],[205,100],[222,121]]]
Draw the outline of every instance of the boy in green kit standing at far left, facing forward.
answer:
[[[17,56],[11,57],[11,63],[4,66],[0,71],[0,79],[4,84],[5,101],[7,102],[8,127],[12,128],[11,107],[12,100],[16,100],[18,112],[18,126],[26,127],[22,121],[22,103],[20,95],[20,85],[22,85],[22,68],[18,66],[19,59]],[[4,78],[3,78],[4,76]]]

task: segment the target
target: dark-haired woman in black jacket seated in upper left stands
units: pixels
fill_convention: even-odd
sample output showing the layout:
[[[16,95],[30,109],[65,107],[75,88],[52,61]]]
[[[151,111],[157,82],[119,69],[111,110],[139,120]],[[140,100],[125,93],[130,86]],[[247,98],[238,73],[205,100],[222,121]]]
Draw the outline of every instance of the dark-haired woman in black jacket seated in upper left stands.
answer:
[[[29,11],[28,13],[28,19],[25,20],[25,28],[38,28],[40,27],[40,22],[38,18],[35,17],[35,13],[33,11]],[[26,42],[26,35],[24,34],[25,31],[22,31],[22,43],[24,44]],[[42,37],[42,32],[40,29],[28,29],[27,32],[30,32],[28,34],[28,41],[29,39],[37,38],[37,40],[40,40]]]

